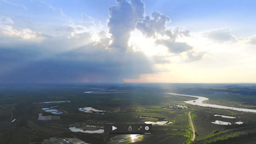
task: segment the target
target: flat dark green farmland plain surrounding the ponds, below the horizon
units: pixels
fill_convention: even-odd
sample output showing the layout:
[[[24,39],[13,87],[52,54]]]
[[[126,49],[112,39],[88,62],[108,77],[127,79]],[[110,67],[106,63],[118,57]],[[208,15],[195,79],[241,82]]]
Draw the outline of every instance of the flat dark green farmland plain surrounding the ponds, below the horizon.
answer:
[[[203,85],[203,84],[202,84]],[[180,86],[180,84],[172,85]],[[196,99],[190,96],[178,96],[164,94],[172,92],[176,94],[189,94],[205,96],[209,103],[220,105],[253,108],[254,95],[211,95],[212,92],[231,91],[229,88],[215,88],[216,85],[207,85],[205,88],[171,87],[170,85],[4,85],[0,86],[0,143],[17,144],[40,144],[43,140],[51,137],[79,138],[90,144],[116,143],[125,140],[125,143],[190,143],[192,128],[189,123],[188,113],[192,111],[193,123],[196,129],[196,139],[206,137],[214,130],[225,131],[236,128],[234,123],[242,121],[252,125],[256,123],[256,114],[218,108],[200,107],[186,104],[184,101]],[[247,86],[247,85],[244,85]],[[211,87],[213,87],[211,89]],[[217,86],[216,86],[217,87]],[[251,86],[252,87],[252,86]],[[98,91],[97,89],[115,89],[110,94],[83,93]],[[251,90],[250,90],[251,91]],[[46,101],[70,101],[50,104],[37,104]],[[247,101],[247,102],[246,102]],[[240,104],[239,103],[239,104]],[[163,108],[162,106],[180,104],[188,108]],[[250,105],[249,105],[250,104]],[[41,108],[49,108],[63,112],[52,114],[44,112]],[[107,110],[105,114],[85,113],[77,108],[93,107]],[[55,120],[38,120],[39,113],[43,116],[60,116]],[[239,117],[228,119],[216,117],[214,114]],[[157,117],[156,119],[141,118]],[[10,123],[12,120],[14,122]],[[221,120],[231,122],[231,126],[216,125],[211,122]],[[140,135],[137,137],[117,138],[117,134],[90,134],[84,132],[72,132],[70,127],[76,126],[84,130],[98,130],[104,123],[144,123],[167,121],[173,122],[168,125],[153,125],[152,135]],[[93,128],[86,125],[95,126]],[[120,136],[122,137],[122,136]]]

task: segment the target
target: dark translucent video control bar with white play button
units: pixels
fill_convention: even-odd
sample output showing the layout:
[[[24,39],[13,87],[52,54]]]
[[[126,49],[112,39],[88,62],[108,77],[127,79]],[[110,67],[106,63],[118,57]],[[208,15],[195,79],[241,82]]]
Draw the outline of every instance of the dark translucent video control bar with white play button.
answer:
[[[152,124],[104,124],[104,134],[152,134]]]

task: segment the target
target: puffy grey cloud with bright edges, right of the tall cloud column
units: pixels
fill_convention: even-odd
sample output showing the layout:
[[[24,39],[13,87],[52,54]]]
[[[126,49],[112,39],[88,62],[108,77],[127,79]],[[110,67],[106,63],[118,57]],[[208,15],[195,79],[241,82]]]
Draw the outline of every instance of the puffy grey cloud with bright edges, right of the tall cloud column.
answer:
[[[192,46],[187,43],[176,42],[177,37],[189,37],[189,31],[186,28],[179,27],[167,28],[171,19],[160,13],[152,12],[150,16],[140,19],[137,23],[137,29],[141,31],[146,38],[155,39],[155,45],[162,45],[168,48],[170,53],[181,53],[191,50]]]

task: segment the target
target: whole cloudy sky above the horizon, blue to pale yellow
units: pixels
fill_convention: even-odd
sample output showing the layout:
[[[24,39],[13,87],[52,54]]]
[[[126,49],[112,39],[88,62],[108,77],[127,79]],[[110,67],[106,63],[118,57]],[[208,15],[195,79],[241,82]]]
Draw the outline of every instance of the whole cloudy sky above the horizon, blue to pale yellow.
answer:
[[[254,0],[0,0],[0,83],[256,82]]]

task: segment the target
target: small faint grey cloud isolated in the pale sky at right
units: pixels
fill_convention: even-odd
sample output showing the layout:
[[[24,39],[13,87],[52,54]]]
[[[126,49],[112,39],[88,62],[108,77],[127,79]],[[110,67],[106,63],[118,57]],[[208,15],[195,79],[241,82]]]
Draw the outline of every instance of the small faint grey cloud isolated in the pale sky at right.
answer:
[[[205,37],[211,39],[213,42],[224,43],[231,41],[234,35],[231,33],[229,28],[211,30],[203,34]]]

